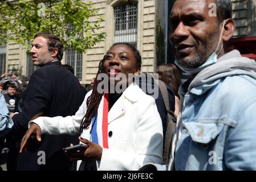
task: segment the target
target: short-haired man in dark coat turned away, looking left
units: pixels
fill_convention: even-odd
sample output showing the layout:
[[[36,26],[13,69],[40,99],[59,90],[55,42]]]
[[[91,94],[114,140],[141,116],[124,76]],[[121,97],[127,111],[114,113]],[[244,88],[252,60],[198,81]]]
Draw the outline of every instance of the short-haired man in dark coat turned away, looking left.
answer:
[[[34,65],[40,68],[30,77],[23,97],[22,113],[11,115],[14,121],[12,136],[15,139],[15,150],[9,152],[7,169],[68,170],[71,162],[64,156],[62,149],[70,146],[70,143],[77,144],[77,136],[46,134],[41,142],[31,140],[27,151],[18,154],[21,139],[32,118],[40,115],[73,115],[83,102],[78,78],[60,63],[63,44],[58,37],[46,32],[36,34],[30,52]]]

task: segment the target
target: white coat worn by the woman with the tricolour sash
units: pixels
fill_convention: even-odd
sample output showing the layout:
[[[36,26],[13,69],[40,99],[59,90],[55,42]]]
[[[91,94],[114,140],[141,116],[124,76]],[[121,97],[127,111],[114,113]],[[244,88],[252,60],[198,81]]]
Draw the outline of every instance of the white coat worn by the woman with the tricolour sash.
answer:
[[[72,117],[39,117],[31,122],[38,124],[42,133],[77,134],[91,93],[87,93]],[[83,130],[81,137],[91,140],[90,130],[91,125]],[[108,136],[109,148],[103,148],[98,170],[138,170],[146,163],[162,164],[161,118],[153,97],[145,94],[139,86],[128,86],[109,110],[109,131],[112,131],[112,136]]]

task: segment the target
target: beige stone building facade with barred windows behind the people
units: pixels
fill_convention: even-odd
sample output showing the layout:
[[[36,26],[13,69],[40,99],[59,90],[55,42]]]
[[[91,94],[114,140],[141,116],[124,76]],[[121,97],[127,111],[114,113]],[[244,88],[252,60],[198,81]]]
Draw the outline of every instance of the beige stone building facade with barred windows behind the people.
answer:
[[[168,51],[168,16],[174,0],[91,1],[99,10],[97,16],[104,16],[100,31],[106,32],[107,37],[84,54],[66,51],[62,60],[63,64],[71,64],[75,68],[82,84],[90,83],[95,77],[99,61],[115,42],[135,44],[143,58],[142,72],[153,73],[157,65],[173,63],[172,53]],[[232,0],[232,3],[233,18],[237,23],[234,36],[256,36],[256,1]],[[128,22],[122,24],[122,18]],[[28,80],[34,70],[26,47],[15,43],[0,46],[0,74],[16,72]]]

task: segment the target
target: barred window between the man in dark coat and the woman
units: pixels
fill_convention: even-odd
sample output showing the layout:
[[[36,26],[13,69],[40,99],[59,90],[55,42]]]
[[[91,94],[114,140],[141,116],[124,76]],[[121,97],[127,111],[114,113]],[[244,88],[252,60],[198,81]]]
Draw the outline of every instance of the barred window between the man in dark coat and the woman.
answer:
[[[74,68],[75,76],[78,77],[79,80],[82,80],[83,53],[78,53],[70,48],[66,50],[65,59],[65,63]]]

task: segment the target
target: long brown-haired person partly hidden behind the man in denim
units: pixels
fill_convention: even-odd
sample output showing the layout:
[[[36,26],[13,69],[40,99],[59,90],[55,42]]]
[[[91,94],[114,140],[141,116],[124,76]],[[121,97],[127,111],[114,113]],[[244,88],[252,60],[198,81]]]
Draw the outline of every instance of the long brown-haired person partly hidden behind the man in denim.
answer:
[[[178,115],[180,108],[180,96],[178,95],[178,88],[181,85],[181,73],[174,64],[162,64],[157,67],[159,80],[165,82],[173,90],[175,94],[175,111],[174,114]]]

